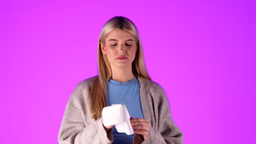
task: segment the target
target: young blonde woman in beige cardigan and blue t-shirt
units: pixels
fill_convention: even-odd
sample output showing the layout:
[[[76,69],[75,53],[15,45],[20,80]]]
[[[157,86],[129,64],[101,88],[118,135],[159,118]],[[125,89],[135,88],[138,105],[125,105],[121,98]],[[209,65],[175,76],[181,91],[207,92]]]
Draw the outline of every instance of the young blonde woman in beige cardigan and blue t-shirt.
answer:
[[[135,134],[102,122],[103,107],[124,104]],[[116,16],[98,41],[98,75],[80,82],[68,100],[59,143],[183,143],[164,89],[148,74],[135,24]]]

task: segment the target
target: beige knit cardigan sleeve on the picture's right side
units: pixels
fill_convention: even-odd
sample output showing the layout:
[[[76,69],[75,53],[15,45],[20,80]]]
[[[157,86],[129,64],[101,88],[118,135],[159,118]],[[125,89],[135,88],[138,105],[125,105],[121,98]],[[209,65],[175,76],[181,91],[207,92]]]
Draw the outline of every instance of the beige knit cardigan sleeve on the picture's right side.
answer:
[[[158,125],[151,127],[149,136],[142,143],[183,143],[183,134],[171,117],[170,104],[164,89],[161,86],[155,89],[156,101],[158,101]]]

